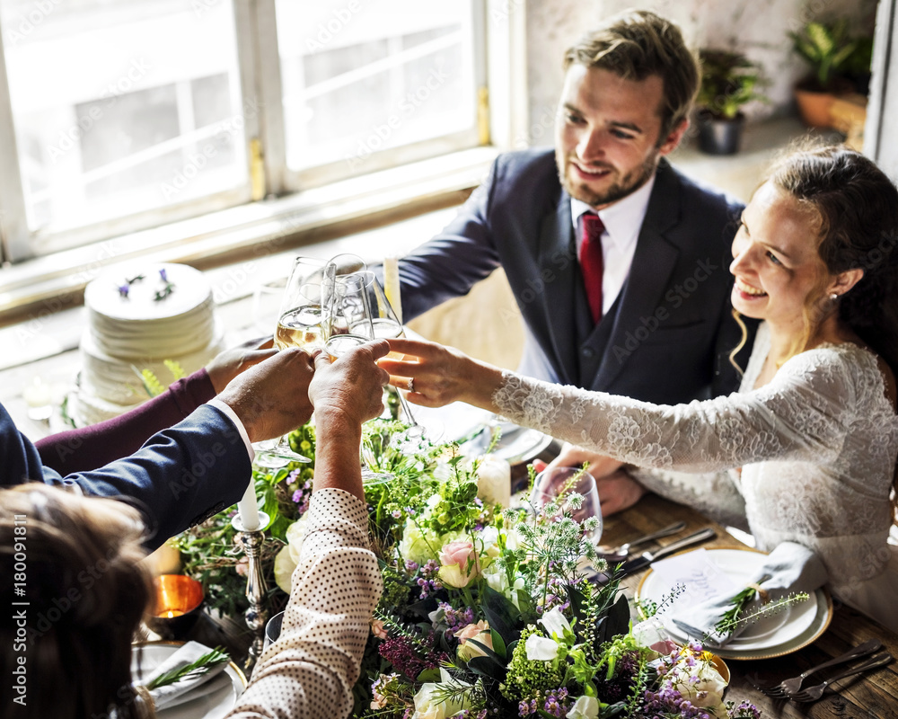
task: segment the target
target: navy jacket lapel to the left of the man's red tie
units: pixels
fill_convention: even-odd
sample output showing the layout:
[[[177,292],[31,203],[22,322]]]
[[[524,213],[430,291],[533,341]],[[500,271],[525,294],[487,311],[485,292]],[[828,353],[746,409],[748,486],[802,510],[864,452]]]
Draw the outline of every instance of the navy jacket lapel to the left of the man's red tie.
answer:
[[[549,327],[552,359],[559,369],[559,380],[566,384],[577,377],[575,318],[560,311],[575,305],[577,254],[573,252],[573,243],[570,198],[562,191],[558,209],[542,222],[537,265],[545,282],[542,307]]]

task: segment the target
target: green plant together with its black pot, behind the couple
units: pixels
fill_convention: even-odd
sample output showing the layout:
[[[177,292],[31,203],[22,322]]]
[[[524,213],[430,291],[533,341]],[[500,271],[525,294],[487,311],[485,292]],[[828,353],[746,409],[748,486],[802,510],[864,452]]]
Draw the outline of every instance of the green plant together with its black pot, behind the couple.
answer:
[[[702,49],[699,108],[699,147],[711,155],[733,155],[739,150],[745,115],[742,106],[767,98],[758,90],[764,84],[761,68],[741,52]]]

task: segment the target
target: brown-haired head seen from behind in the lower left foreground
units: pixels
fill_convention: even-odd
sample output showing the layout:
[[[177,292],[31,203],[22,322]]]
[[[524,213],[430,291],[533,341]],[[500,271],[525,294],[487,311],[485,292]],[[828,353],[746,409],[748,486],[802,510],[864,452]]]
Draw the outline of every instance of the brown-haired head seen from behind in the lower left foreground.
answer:
[[[122,502],[38,483],[0,491],[0,587],[22,602],[0,622],[0,664],[7,681],[24,678],[13,700],[26,697],[0,715],[143,715],[130,674],[131,639],[151,596],[138,564],[143,531]],[[25,670],[13,674],[17,666]]]

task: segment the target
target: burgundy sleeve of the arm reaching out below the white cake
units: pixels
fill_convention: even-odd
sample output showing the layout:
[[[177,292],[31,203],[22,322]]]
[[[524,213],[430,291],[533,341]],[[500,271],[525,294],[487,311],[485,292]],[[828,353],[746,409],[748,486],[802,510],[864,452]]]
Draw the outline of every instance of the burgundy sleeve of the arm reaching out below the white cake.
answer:
[[[58,432],[35,444],[43,464],[60,475],[97,469],[134,454],[156,432],[185,419],[215,395],[206,369],[198,369],[128,413],[89,427]]]

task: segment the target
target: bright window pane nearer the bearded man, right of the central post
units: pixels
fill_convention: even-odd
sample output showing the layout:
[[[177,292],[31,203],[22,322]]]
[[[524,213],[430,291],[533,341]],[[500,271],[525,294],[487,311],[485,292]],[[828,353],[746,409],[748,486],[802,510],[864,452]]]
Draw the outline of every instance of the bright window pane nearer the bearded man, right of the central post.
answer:
[[[277,0],[287,165],[345,161],[476,121],[471,0]]]

